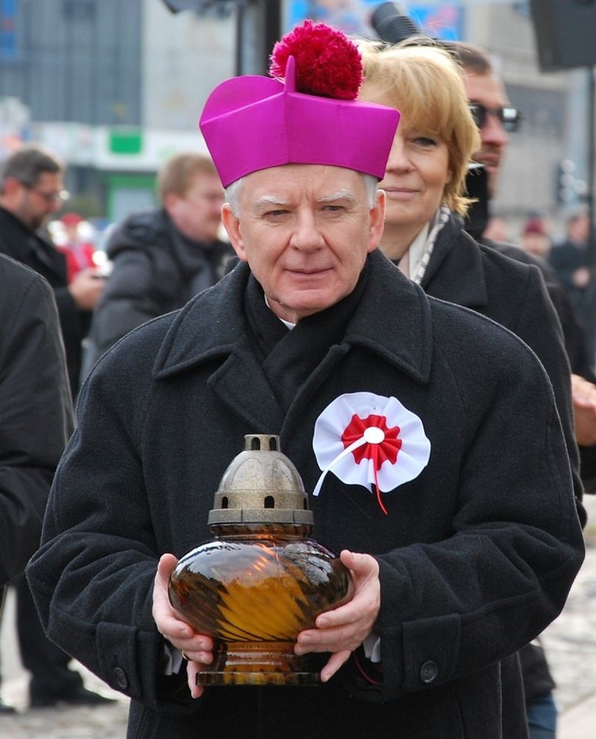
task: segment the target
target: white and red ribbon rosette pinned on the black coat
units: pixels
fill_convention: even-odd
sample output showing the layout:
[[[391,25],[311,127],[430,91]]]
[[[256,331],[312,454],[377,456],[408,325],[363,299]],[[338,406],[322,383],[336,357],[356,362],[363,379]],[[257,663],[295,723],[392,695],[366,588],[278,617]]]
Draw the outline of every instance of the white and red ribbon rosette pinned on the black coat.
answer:
[[[312,436],[321,477],[327,472],[348,485],[361,485],[372,493],[387,513],[380,494],[418,477],[431,456],[431,442],[422,420],[397,398],[373,392],[351,392],[329,403],[315,423]]]

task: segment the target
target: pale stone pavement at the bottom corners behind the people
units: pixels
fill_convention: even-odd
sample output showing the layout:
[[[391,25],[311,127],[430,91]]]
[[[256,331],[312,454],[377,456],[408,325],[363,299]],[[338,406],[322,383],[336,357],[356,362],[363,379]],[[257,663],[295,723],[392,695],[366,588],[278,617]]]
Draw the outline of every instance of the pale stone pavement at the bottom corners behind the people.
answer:
[[[586,497],[586,508],[586,560],[563,613],[541,637],[557,681],[557,739],[596,737],[596,496]],[[0,739],[125,739],[128,699],[76,663],[86,686],[116,698],[114,704],[27,710],[27,672],[18,658],[13,593],[6,605],[0,628],[2,696],[18,713],[0,717]]]

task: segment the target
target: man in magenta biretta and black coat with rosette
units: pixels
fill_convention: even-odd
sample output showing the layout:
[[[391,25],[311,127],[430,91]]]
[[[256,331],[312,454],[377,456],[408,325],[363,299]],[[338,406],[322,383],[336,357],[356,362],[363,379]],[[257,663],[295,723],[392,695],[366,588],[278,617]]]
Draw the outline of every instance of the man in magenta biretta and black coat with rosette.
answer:
[[[544,368],[377,249],[397,112],[346,99],[353,48],[306,21],[274,58],[284,83],[213,92],[202,131],[242,264],[126,336],[81,393],[27,573],[49,636],[131,697],[129,737],[501,739],[501,661],[583,561]],[[321,49],[322,85],[305,80]],[[315,687],[197,686],[213,640],[168,601],[252,432],[281,438],[315,538],[352,571],[352,599],[296,639],[321,657]]]

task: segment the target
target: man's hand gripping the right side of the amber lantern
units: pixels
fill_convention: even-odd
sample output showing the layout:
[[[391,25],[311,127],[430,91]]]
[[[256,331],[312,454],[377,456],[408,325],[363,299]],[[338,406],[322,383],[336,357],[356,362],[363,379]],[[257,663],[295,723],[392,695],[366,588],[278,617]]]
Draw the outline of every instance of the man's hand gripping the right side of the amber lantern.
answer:
[[[315,621],[316,628],[301,631],[294,651],[332,652],[321,670],[321,680],[328,681],[349,655],[371,633],[380,608],[379,565],[369,554],[354,554],[344,549],[340,559],[352,571],[354,596],[349,603],[335,610],[321,613]]]

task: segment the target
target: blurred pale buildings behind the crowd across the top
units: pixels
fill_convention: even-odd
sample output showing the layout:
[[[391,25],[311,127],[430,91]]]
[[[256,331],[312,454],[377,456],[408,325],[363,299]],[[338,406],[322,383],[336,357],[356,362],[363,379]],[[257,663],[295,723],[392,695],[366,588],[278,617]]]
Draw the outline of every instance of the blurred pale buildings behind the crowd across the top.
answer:
[[[596,17],[594,0],[561,5],[575,3],[593,4]],[[68,209],[120,220],[154,205],[155,173],[166,158],[205,149],[196,121],[213,86],[264,73],[273,41],[304,17],[374,35],[370,15],[379,4],[0,0],[0,160],[21,140],[46,143],[69,165]],[[553,2],[533,4],[548,12]],[[541,72],[528,1],[397,5],[428,35],[490,52],[523,113],[493,208],[513,224],[542,211],[555,228],[562,224],[589,194],[593,67]]]

